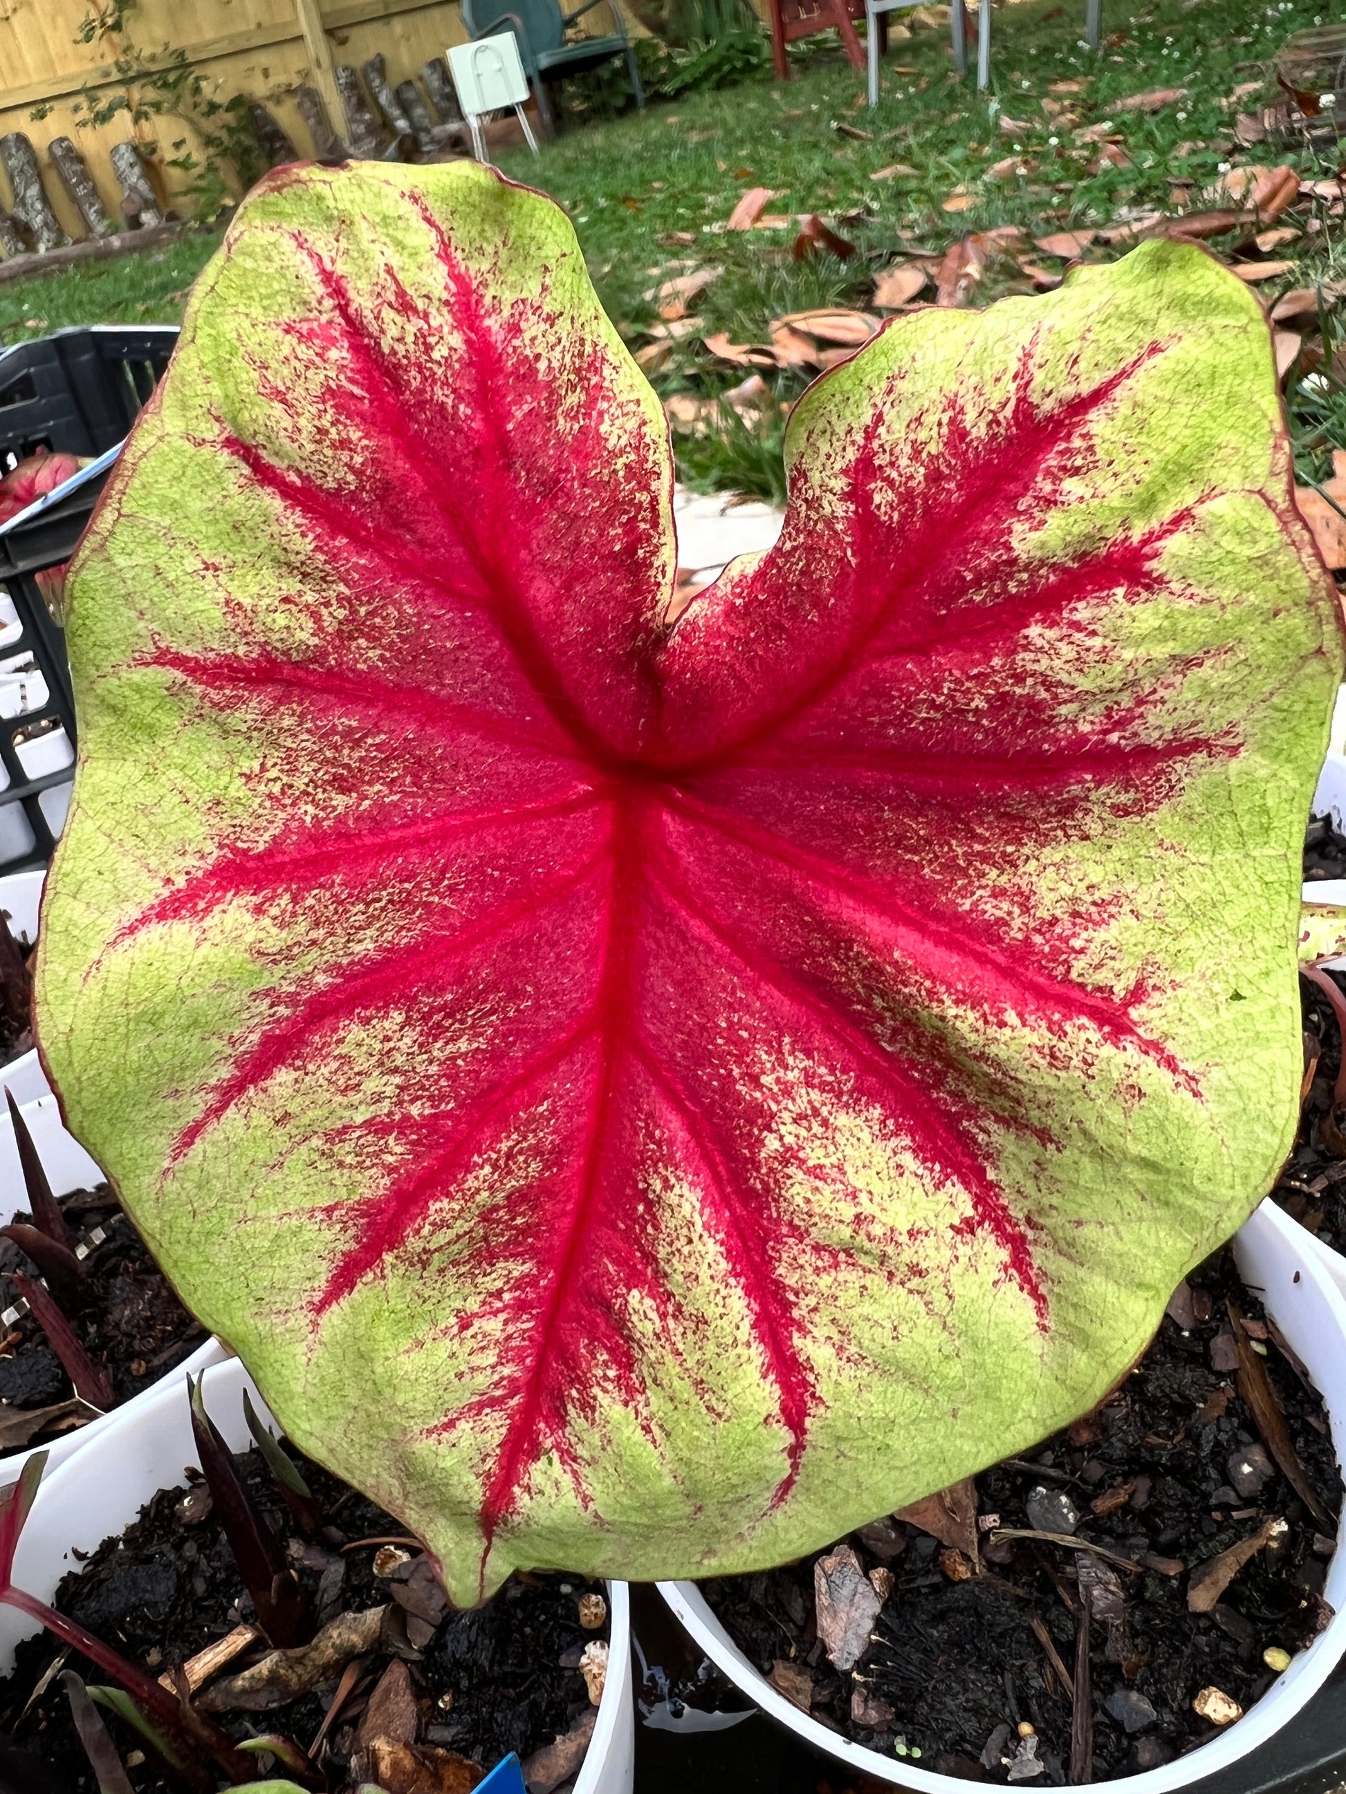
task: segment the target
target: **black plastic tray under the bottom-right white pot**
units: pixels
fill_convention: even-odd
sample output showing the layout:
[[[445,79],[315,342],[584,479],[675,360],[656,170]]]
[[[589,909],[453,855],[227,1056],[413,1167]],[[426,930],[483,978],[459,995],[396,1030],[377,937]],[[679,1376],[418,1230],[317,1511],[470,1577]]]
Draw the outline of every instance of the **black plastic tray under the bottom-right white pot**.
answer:
[[[635,1794],[881,1794],[881,1783],[818,1755],[765,1713],[754,1711],[727,1729],[693,1729],[707,1715],[691,1713],[669,1729],[668,1713],[642,1711],[644,1665],[691,1668],[700,1652],[653,1588],[632,1588],[632,1634]],[[1269,1744],[1235,1769],[1190,1783],[1190,1794],[1337,1794],[1341,1789],[1346,1789],[1346,1663]]]

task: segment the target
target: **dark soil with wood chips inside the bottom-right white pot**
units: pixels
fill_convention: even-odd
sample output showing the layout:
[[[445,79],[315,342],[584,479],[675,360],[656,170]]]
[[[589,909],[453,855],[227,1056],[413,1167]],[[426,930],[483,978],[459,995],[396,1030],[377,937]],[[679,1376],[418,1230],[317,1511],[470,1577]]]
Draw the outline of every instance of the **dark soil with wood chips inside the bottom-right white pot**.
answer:
[[[1263,1652],[1294,1654],[1330,1618],[1321,1589],[1332,1541],[1272,1462],[1235,1389],[1226,1297],[1254,1335],[1267,1335],[1226,1249],[1179,1290],[1156,1340],[1100,1408],[1030,1459],[975,1480],[983,1523],[976,1546],[971,1527],[958,1552],[901,1520],[845,1541],[865,1573],[878,1572],[879,1582],[885,1570],[892,1575],[852,1672],[835,1668],[817,1633],[815,1557],[705,1582],[705,1598],[781,1692],[809,1703],[815,1719],[845,1737],[922,1769],[987,1781],[1010,1780],[1018,1753],[1014,1780],[1062,1783],[1071,1780],[1075,1615],[1082,1581],[1100,1559],[1071,1543],[996,1541],[996,1532],[1073,1532],[1136,1564],[1106,1564],[1120,1597],[1114,1618],[1100,1620],[1091,1597],[1084,1706],[1093,1780],[1134,1774],[1208,1742],[1215,1726],[1192,1706],[1201,1690],[1219,1688],[1247,1710],[1274,1681]],[[1256,1344],[1299,1459],[1335,1514],[1341,1480],[1321,1401],[1272,1335]],[[1287,1521],[1278,1545],[1233,1577],[1211,1613],[1190,1613],[1188,1572],[1271,1516]],[[695,1688],[675,1694],[705,1704]],[[1019,1726],[1034,1731],[1030,1756],[1041,1767],[1030,1767]]]

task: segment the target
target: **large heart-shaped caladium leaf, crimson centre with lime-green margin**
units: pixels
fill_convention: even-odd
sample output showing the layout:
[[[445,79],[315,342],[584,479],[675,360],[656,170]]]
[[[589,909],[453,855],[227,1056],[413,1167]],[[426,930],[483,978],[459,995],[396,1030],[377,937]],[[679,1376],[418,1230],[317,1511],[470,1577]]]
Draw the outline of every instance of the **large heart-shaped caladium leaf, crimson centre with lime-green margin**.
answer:
[[[1150,242],[885,327],[666,624],[659,400],[479,167],[248,199],[74,574],[39,1039],[454,1600],[1039,1439],[1289,1150],[1341,675],[1265,323]]]

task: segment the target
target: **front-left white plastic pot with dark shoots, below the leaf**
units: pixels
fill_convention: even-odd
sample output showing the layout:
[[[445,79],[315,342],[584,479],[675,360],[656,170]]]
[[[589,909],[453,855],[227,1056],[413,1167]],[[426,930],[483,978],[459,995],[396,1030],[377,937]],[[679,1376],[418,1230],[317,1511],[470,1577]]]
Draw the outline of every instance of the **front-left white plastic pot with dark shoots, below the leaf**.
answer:
[[[206,1412],[232,1451],[251,1446],[242,1412],[244,1390],[262,1419],[269,1419],[257,1385],[237,1358],[206,1371]],[[45,1478],[18,1543],[14,1584],[50,1602],[61,1579],[79,1568],[75,1550],[93,1552],[113,1532],[129,1527],[160,1489],[185,1487],[183,1466],[194,1464],[196,1457],[187,1383],[179,1372],[167,1385],[109,1414],[79,1460]],[[632,1787],[635,1719],[625,1582],[608,1584],[608,1677],[574,1794],[630,1794]],[[0,1676],[14,1667],[14,1647],[36,1631],[39,1627],[27,1615],[0,1606]]]

